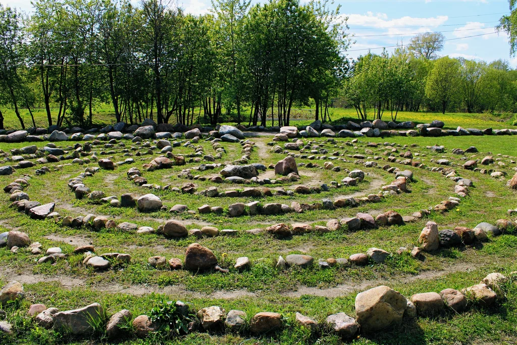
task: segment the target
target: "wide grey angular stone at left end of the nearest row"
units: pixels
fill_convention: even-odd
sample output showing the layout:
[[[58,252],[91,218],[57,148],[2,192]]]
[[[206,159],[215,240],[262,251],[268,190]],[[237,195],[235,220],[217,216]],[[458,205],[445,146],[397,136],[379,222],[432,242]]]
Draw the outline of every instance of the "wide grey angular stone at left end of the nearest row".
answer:
[[[54,329],[84,336],[95,331],[93,323],[102,322],[103,310],[100,304],[93,303],[84,308],[59,311],[54,314]]]

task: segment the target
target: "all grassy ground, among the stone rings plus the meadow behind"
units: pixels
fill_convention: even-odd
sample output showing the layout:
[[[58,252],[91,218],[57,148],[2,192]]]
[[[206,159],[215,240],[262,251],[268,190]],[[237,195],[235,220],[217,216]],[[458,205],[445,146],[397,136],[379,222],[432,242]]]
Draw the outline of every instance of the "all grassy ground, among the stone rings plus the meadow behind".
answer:
[[[102,114],[102,113],[101,113]],[[108,111],[96,117],[96,123],[111,123]],[[331,114],[334,123],[343,123],[343,118],[354,118],[355,111],[333,110]],[[14,128],[12,114],[8,114],[7,127]],[[7,117],[7,116],[6,116]],[[389,114],[385,115],[388,121]],[[512,119],[499,121],[497,116],[482,114],[447,113],[400,113],[397,121],[411,120],[416,123],[430,122],[432,119],[445,122],[446,128],[462,126],[464,128],[512,128]],[[39,117],[38,123],[43,126],[44,118]],[[293,122],[302,125],[310,120]],[[28,125],[28,122],[26,122]],[[27,126],[28,127],[28,126]],[[285,153],[272,152],[270,145],[272,135],[267,133],[248,133],[252,141],[250,163],[262,163],[265,167],[276,164],[285,158]],[[207,138],[207,136],[206,136]],[[171,142],[173,139],[169,139]],[[249,323],[254,314],[261,311],[278,312],[282,315],[283,326],[267,334],[253,334],[248,329],[243,332],[230,332],[223,328],[209,331],[191,332],[187,335],[174,336],[160,331],[146,338],[133,334],[131,325],[127,325],[124,336],[116,342],[120,344],[339,344],[342,339],[336,333],[324,327],[325,319],[333,313],[345,312],[354,317],[354,302],[356,295],[369,288],[386,285],[410,297],[415,293],[440,292],[446,288],[462,290],[465,287],[478,284],[486,275],[498,272],[508,277],[501,286],[506,297],[498,299],[491,306],[483,306],[469,299],[466,311],[458,313],[450,308],[444,308],[432,317],[419,315],[415,318],[404,318],[404,322],[385,329],[382,332],[363,333],[349,340],[354,344],[484,344],[517,341],[517,232],[510,227],[498,235],[489,234],[487,242],[461,244],[451,248],[440,248],[435,251],[423,251],[420,258],[413,257],[409,251],[397,253],[400,247],[411,250],[419,246],[418,238],[422,229],[429,221],[438,224],[438,230],[466,227],[473,229],[480,222],[495,224],[498,219],[512,219],[508,209],[517,207],[516,192],[506,186],[506,182],[515,173],[517,167],[517,137],[442,137],[442,138],[359,138],[352,143],[351,139],[327,138],[301,139],[303,145],[318,146],[326,153],[316,153],[315,156],[326,158],[310,159],[311,149],[304,152],[293,151],[298,164],[299,181],[282,181],[272,169],[260,172],[259,178],[277,179],[271,185],[232,184],[229,182],[214,183],[211,177],[218,176],[223,167],[208,170],[193,170],[195,179],[180,177],[184,169],[197,168],[200,164],[230,163],[241,159],[242,147],[239,143],[221,142],[225,152],[215,162],[207,161],[204,155],[215,156],[216,151],[210,141],[201,138],[191,146],[184,146],[188,140],[176,140],[181,144],[174,146],[174,155],[184,155],[184,166],[174,165],[168,169],[148,171],[143,165],[154,158],[163,155],[156,148],[153,140],[142,143],[132,143],[130,140],[116,140],[113,147],[105,147],[101,142],[92,147],[92,152],[81,159],[90,158],[93,154],[99,159],[110,159],[113,162],[133,158],[133,163],[115,165],[114,170],[100,169],[93,176],[84,178],[84,184],[91,191],[103,191],[105,196],[135,193],[142,196],[153,193],[158,196],[165,209],[153,212],[141,212],[137,207],[113,207],[109,202],[92,201],[85,197],[77,199],[70,189],[70,178],[83,173],[87,167],[99,167],[92,159],[84,164],[63,162],[37,164],[32,168],[17,169],[12,175],[0,176],[0,185],[7,186],[16,178],[29,175],[28,186],[23,189],[31,200],[41,204],[54,202],[55,210],[60,216],[106,216],[122,222],[135,223],[138,227],[158,229],[166,220],[176,219],[188,229],[202,229],[206,226],[219,230],[236,230],[234,235],[210,237],[203,235],[197,238],[188,235],[181,238],[168,238],[163,234],[136,233],[135,230],[125,231],[118,228],[92,229],[89,227],[75,228],[64,226],[54,219],[36,220],[29,218],[18,209],[10,207],[9,193],[4,193],[0,201],[0,233],[17,230],[28,234],[31,241],[41,243],[43,252],[51,247],[59,247],[66,258],[54,263],[38,264],[43,254],[35,255],[26,248],[12,252],[7,247],[0,248],[0,287],[7,282],[17,280],[23,283],[25,298],[17,303],[4,307],[7,312],[6,321],[13,326],[14,335],[0,333],[2,344],[93,344],[112,343],[106,335],[104,324],[107,319],[97,325],[95,332],[84,337],[69,337],[37,326],[34,320],[27,316],[30,305],[42,303],[47,307],[68,310],[84,307],[90,303],[100,303],[107,317],[121,309],[129,309],[133,318],[141,314],[149,314],[151,309],[163,306],[166,301],[181,301],[190,303],[190,309],[197,311],[209,306],[220,306],[226,311],[243,310]],[[150,144],[145,145],[145,142]],[[38,149],[47,141],[35,143]],[[84,142],[80,142],[84,145]],[[378,145],[372,145],[376,143]],[[386,144],[385,144],[386,143]],[[20,149],[33,143],[1,143],[0,149],[4,157],[11,157],[12,149]],[[75,141],[56,142],[57,147],[72,152]],[[275,143],[283,147],[284,143]],[[367,145],[369,144],[369,145]],[[386,148],[386,146],[391,148]],[[444,153],[432,151],[428,146],[443,145]],[[152,147],[150,147],[152,146]],[[478,153],[453,154],[454,148],[465,151],[475,146]],[[201,156],[194,156],[195,149],[202,148]],[[391,149],[392,155],[399,161],[388,161]],[[404,164],[400,154],[407,151],[412,153],[412,160],[422,163],[420,167]],[[137,155],[136,153],[141,153]],[[300,156],[302,155],[302,156]],[[363,158],[354,155],[364,156]],[[329,157],[337,157],[330,159]],[[494,162],[481,166],[489,171],[467,170],[463,163],[467,160],[479,161],[485,156],[493,156]],[[189,158],[192,157],[192,158]],[[377,157],[377,158],[375,158]],[[35,157],[26,157],[35,161]],[[447,159],[447,165],[437,163],[438,159]],[[324,163],[331,161],[340,170],[324,169]],[[375,162],[368,164],[366,162]],[[67,163],[67,164],[63,164]],[[68,164],[71,163],[71,164]],[[303,163],[300,165],[300,163]],[[13,165],[16,162],[5,162],[0,165]],[[309,164],[309,165],[308,165]],[[317,164],[309,168],[310,164]],[[338,207],[324,209],[315,207],[302,213],[290,212],[282,214],[241,215],[230,216],[229,205],[259,201],[262,206],[268,203],[292,205],[322,203],[329,198],[334,201],[350,197],[361,198],[369,194],[377,194],[382,186],[389,185],[395,179],[392,172],[382,167],[390,167],[401,171],[413,172],[413,181],[407,184],[408,191],[386,194],[378,202],[361,202],[357,207]],[[50,171],[36,175],[36,169],[47,166]],[[151,186],[138,186],[131,181],[127,172],[130,168],[138,168]],[[432,169],[435,168],[435,169]],[[468,196],[461,198],[459,205],[446,212],[435,211],[434,207],[449,197],[456,197],[456,183],[446,177],[442,171],[455,171],[456,175],[473,182],[468,189]],[[334,187],[331,182],[341,183],[348,176],[348,171],[362,170],[364,180],[356,186]],[[490,173],[499,171],[503,177],[492,177]],[[205,178],[203,178],[205,177]],[[204,181],[203,181],[204,180]],[[175,191],[172,187],[181,188],[189,183],[195,185],[198,193],[190,194]],[[322,190],[322,185],[329,187]],[[153,188],[153,186],[169,188]],[[256,188],[262,191],[260,197],[207,197],[199,192],[209,187],[217,187],[219,193],[229,190],[242,192],[246,188]],[[292,195],[281,195],[279,189],[295,190],[296,187],[306,186],[310,192],[295,192]],[[270,196],[264,195],[267,187]],[[223,212],[200,213],[198,207],[221,206]],[[186,205],[194,212],[171,213],[174,205]],[[401,225],[387,226],[378,224],[374,229],[351,231],[341,226],[334,231],[310,231],[280,237],[265,229],[277,223],[293,224],[307,223],[312,228],[326,226],[331,219],[354,217],[357,213],[368,213],[373,217],[389,210],[402,216],[411,216],[422,209],[431,208],[429,215],[406,221]],[[246,211],[249,211],[246,209]],[[219,266],[229,272],[193,272],[187,269],[172,270],[155,268],[148,264],[148,258],[164,256],[166,260],[178,258],[185,262],[186,248],[197,242],[212,250]],[[91,244],[97,254],[117,252],[127,253],[131,262],[112,264],[108,269],[97,271],[83,264],[83,254],[74,253],[74,248]],[[318,260],[328,258],[349,258],[354,253],[366,253],[371,247],[381,248],[391,255],[382,263],[371,259],[368,264],[334,265],[328,268],[318,267]],[[314,258],[310,267],[277,268],[279,256],[285,258],[288,254],[306,254]],[[237,258],[248,257],[251,264],[240,271],[234,268]],[[2,308],[0,308],[2,309]],[[295,313],[299,312],[316,320],[320,326],[316,332],[300,326],[295,322]],[[195,318],[195,316],[194,316]],[[0,316],[0,321],[3,318]]]

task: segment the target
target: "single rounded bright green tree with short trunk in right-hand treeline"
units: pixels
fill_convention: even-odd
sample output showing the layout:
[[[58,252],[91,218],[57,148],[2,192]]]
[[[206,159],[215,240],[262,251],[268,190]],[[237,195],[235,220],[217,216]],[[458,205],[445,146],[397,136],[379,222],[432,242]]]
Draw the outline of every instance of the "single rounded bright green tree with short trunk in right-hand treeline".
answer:
[[[425,95],[439,104],[442,113],[458,100],[460,90],[460,62],[448,56],[440,57],[434,64],[427,83]]]

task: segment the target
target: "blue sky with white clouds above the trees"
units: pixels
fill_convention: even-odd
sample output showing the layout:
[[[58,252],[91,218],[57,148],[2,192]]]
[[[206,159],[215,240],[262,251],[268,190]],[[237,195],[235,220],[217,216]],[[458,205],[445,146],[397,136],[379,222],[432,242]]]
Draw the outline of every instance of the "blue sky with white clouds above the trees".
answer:
[[[210,0],[177,1],[193,14],[206,13],[211,6]],[[31,0],[0,3],[25,12],[32,9]],[[508,0],[335,0],[334,5],[338,4],[341,16],[348,18],[349,35],[354,35],[347,51],[349,58],[366,54],[369,49],[381,53],[383,47],[407,44],[417,33],[442,32],[447,41],[440,55],[486,62],[505,59],[517,68],[507,35],[496,33],[494,28],[499,18],[509,13]],[[393,49],[386,48],[388,52]]]

